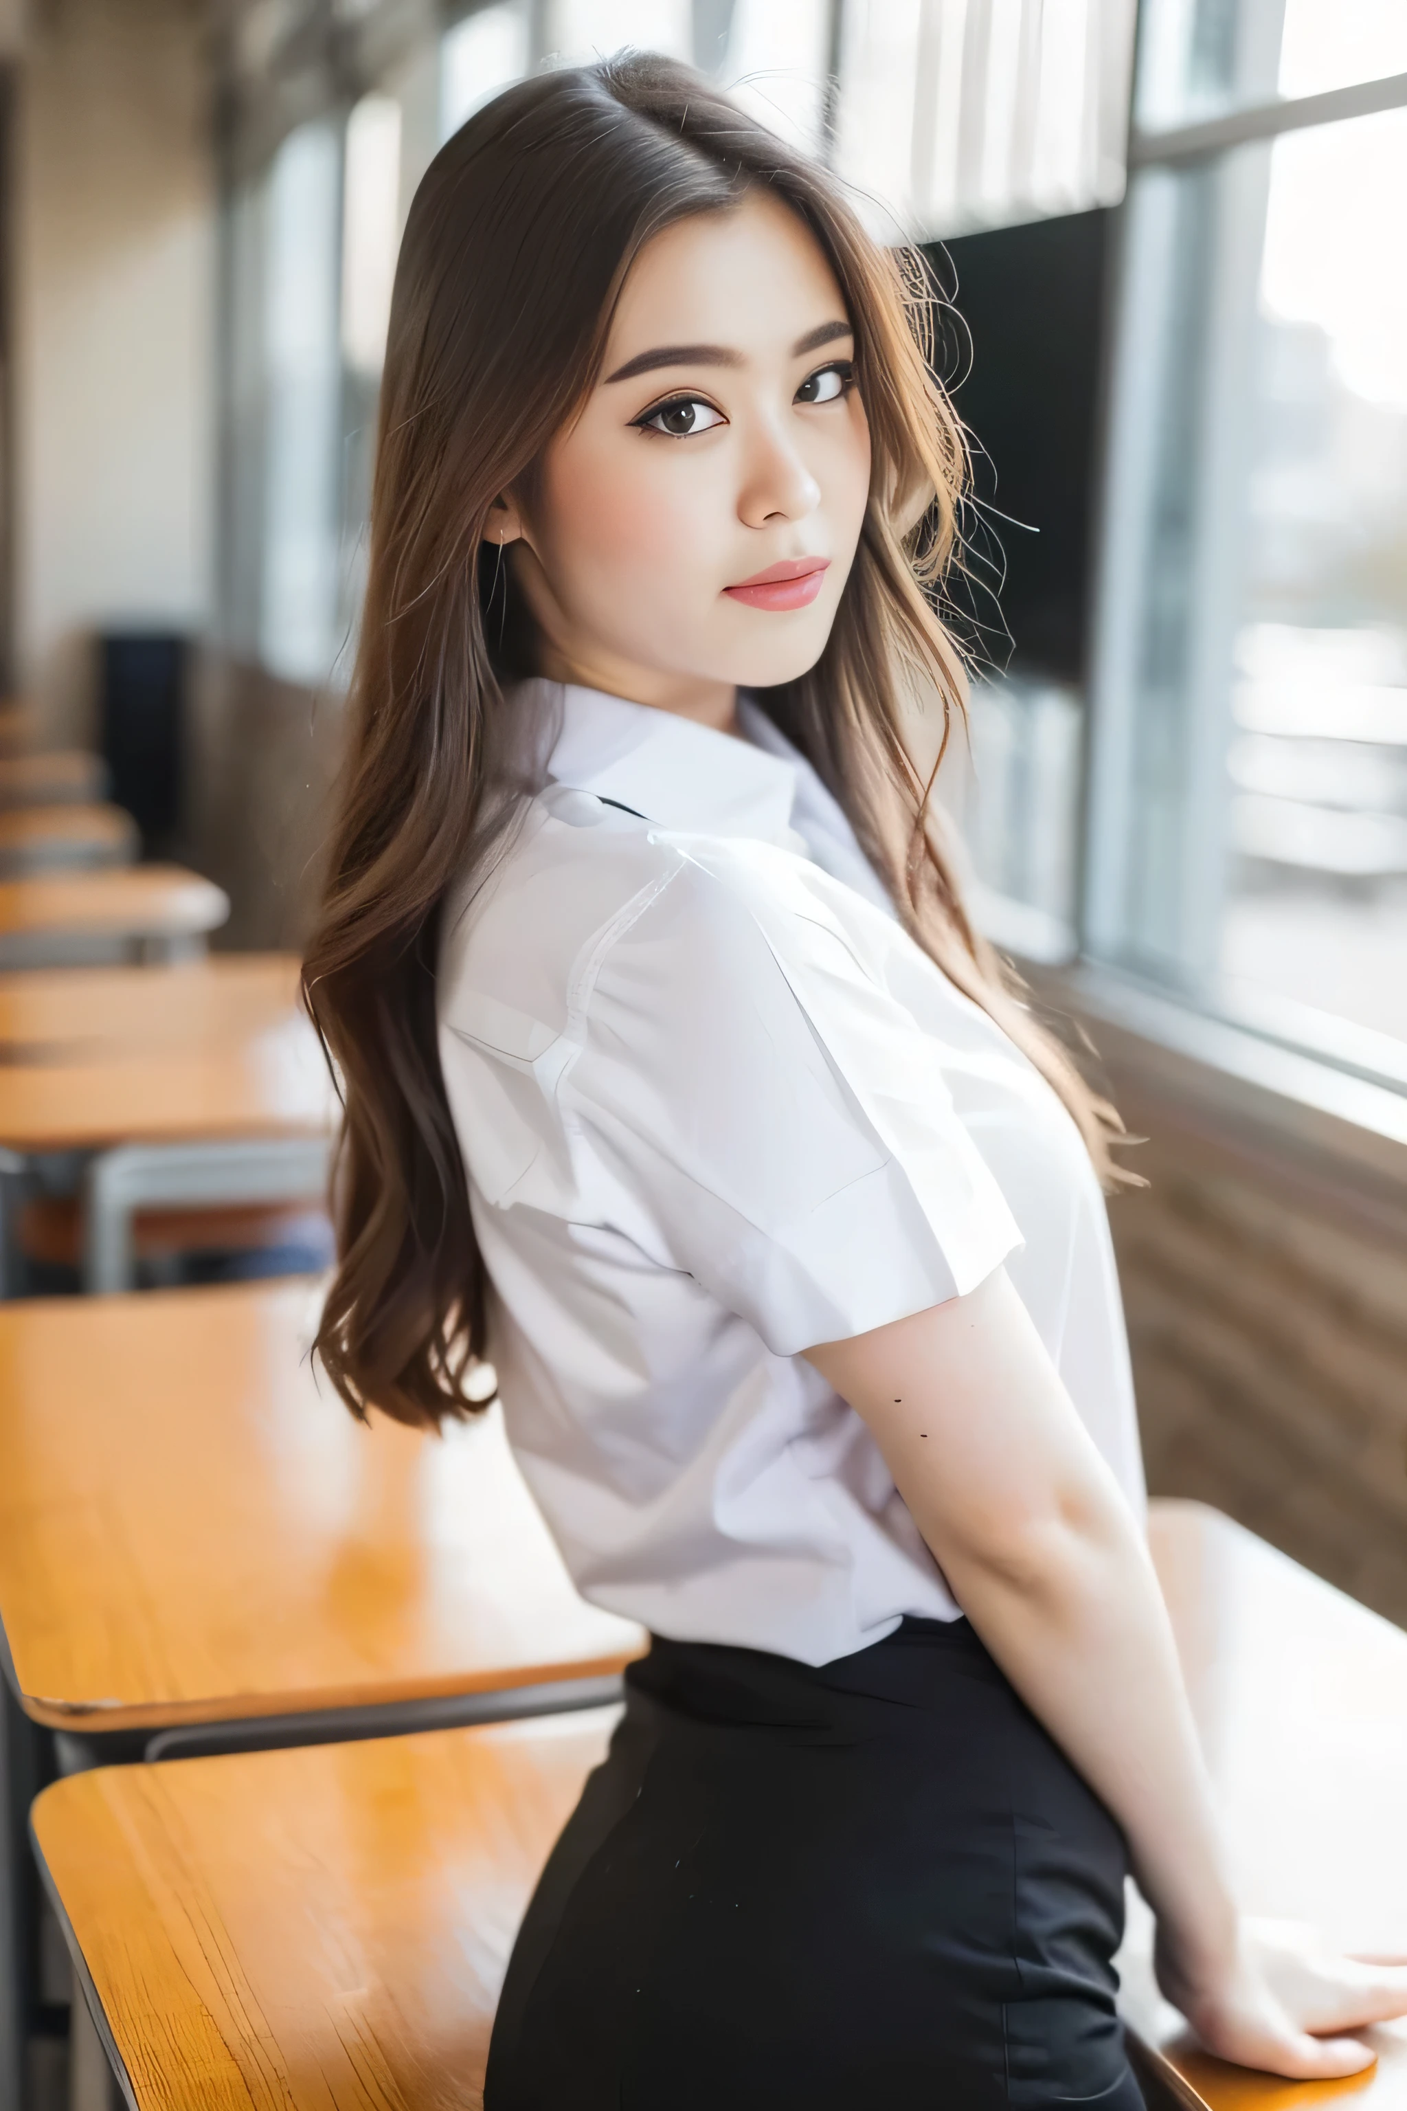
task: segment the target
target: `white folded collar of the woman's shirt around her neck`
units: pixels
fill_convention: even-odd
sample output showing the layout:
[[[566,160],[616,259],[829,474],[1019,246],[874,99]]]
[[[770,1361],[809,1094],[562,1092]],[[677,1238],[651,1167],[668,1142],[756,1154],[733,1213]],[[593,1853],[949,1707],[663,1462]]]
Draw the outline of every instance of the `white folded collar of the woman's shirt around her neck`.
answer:
[[[627,703],[572,682],[561,699],[561,733],[546,775],[576,792],[629,806],[658,828],[700,836],[759,836],[797,847],[791,809],[797,762],[732,733],[715,733],[675,711]],[[753,718],[743,722],[753,733]]]

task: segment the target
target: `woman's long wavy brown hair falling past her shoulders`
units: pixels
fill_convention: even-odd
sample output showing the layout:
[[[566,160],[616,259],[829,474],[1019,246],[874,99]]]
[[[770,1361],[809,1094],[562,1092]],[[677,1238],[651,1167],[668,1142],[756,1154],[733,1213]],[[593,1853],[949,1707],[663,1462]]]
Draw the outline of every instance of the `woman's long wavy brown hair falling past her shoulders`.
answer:
[[[683,65],[633,55],[542,74],[430,165],[390,312],[350,754],[304,965],[346,1102],[316,1351],[356,1412],[435,1423],[479,1406],[487,1283],[437,1056],[435,950],[447,887],[487,863],[510,813],[523,728],[508,695],[534,657],[513,570],[483,543],[487,513],[595,386],[641,247],[749,186],[802,215],[840,281],[873,443],[829,644],[759,701],[844,804],[907,929],[1029,1053],[1110,1172],[1116,1117],[972,931],[932,777],[905,741],[915,697],[943,714],[943,743],[966,697],[934,612],[966,456],[930,369],[920,260],[873,243],[818,167]]]

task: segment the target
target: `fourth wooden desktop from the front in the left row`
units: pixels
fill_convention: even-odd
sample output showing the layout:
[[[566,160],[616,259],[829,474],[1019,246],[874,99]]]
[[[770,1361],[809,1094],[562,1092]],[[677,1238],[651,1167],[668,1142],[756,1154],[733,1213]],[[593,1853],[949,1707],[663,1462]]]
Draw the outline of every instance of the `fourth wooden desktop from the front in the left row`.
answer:
[[[249,1041],[300,1018],[297,956],[221,952],[179,967],[61,967],[0,975],[0,1062],[146,1058]]]

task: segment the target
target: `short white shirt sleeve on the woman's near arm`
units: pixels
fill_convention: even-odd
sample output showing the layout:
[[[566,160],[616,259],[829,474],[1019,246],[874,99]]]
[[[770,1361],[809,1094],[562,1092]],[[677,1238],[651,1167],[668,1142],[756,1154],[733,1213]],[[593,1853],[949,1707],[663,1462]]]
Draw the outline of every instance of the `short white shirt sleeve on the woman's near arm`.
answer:
[[[686,863],[603,950],[578,1037],[563,1115],[601,1218],[776,1355],[962,1296],[1021,1245],[941,1039],[825,916],[759,920]]]

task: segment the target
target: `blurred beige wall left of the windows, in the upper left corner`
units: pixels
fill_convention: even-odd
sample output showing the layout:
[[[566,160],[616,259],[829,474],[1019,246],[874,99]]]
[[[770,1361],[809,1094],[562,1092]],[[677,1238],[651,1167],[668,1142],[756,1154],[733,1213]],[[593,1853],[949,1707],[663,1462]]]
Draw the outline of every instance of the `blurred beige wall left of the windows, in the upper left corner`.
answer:
[[[200,627],[215,171],[198,0],[30,13],[15,152],[19,684],[89,733],[103,625]]]

